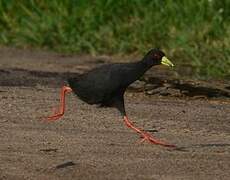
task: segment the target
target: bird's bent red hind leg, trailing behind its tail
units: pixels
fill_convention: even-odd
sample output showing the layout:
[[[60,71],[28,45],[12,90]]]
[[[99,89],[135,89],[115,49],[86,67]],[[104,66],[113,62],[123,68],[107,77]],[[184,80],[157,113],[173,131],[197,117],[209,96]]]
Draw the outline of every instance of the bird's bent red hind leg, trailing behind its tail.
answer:
[[[46,120],[48,121],[55,121],[62,117],[65,112],[65,94],[71,92],[72,89],[68,86],[63,86],[61,89],[61,94],[60,94],[60,107],[59,109],[54,108],[54,114],[52,116],[48,116]]]

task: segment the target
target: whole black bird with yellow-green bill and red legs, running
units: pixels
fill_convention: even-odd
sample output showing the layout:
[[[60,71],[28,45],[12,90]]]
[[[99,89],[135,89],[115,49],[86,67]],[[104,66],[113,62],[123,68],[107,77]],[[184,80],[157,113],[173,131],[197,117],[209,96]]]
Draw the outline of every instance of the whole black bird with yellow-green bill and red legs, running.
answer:
[[[141,61],[134,63],[116,63],[102,65],[76,78],[69,78],[69,86],[61,90],[60,108],[47,120],[57,120],[64,115],[65,94],[73,91],[88,104],[99,104],[117,108],[124,118],[125,124],[153,144],[174,147],[155,139],[149,133],[135,127],[125,112],[124,93],[126,88],[140,78],[148,69],[155,65],[173,66],[165,54],[159,49],[150,50]]]

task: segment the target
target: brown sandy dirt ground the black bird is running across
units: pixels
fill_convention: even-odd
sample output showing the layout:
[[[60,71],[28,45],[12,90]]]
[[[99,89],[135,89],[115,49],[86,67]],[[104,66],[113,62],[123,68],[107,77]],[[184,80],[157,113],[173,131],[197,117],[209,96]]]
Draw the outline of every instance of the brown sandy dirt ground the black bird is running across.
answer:
[[[165,148],[140,143],[116,109],[87,105],[73,94],[61,120],[42,120],[58,105],[65,76],[107,57],[6,48],[0,54],[0,179],[230,178],[229,98],[127,92],[135,125],[178,147]]]

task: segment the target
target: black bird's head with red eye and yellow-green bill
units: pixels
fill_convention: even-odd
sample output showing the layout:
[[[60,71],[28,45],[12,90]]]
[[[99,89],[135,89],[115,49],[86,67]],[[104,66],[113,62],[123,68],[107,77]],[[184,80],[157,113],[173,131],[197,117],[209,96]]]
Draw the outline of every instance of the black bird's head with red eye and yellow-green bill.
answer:
[[[173,63],[165,56],[165,53],[160,49],[151,49],[144,57],[144,61],[146,61],[149,65],[166,65],[173,67]]]

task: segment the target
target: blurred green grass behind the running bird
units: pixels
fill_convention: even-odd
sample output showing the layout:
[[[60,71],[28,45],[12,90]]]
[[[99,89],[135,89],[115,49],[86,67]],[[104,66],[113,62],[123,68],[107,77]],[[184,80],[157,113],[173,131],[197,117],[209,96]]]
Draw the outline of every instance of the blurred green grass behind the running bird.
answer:
[[[0,44],[137,56],[159,47],[193,77],[229,78],[230,1],[0,0]]]

